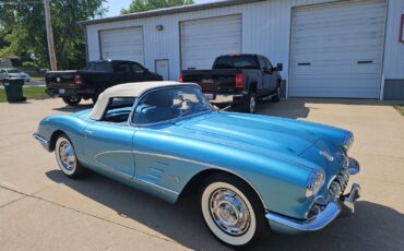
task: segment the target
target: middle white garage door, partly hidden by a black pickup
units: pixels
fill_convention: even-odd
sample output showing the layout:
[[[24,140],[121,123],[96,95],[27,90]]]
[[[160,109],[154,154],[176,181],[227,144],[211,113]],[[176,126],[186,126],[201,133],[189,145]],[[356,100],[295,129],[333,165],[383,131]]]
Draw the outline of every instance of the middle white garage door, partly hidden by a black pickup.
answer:
[[[241,52],[241,15],[181,23],[182,69],[210,69],[219,55]]]

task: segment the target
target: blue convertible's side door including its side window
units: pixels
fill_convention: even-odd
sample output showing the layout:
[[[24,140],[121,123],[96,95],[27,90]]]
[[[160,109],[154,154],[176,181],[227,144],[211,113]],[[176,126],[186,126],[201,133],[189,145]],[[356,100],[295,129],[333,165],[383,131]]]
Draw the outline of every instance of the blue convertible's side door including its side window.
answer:
[[[128,122],[133,100],[114,98],[103,119],[88,123],[84,130],[86,163],[94,169],[128,180],[133,178],[135,168],[132,147],[136,129]]]

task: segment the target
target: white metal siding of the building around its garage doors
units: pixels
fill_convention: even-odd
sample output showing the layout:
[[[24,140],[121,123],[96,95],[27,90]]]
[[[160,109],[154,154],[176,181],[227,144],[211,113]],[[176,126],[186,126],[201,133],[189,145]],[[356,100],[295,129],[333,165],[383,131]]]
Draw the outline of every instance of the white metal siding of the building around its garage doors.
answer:
[[[274,64],[284,63],[282,76],[288,83],[292,8],[324,2],[335,1],[269,0],[212,10],[93,24],[87,26],[88,59],[99,59],[98,31],[143,26],[145,67],[153,71],[156,59],[168,59],[170,79],[177,80],[180,72],[180,22],[241,14],[241,52],[261,53],[269,57]],[[404,13],[404,1],[389,0],[384,74],[390,79],[404,79],[404,45],[397,41],[401,13]],[[156,31],[156,25],[164,25],[164,31]]]

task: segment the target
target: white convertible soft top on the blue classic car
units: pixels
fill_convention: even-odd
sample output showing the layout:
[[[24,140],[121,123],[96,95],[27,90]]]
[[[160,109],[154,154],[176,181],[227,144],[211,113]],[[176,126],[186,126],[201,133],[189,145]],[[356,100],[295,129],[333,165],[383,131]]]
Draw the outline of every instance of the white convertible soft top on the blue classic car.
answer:
[[[153,88],[170,87],[170,86],[183,86],[194,85],[193,83],[179,83],[175,81],[156,81],[156,82],[139,82],[129,84],[119,84],[110,88],[107,88],[98,97],[97,103],[94,105],[93,110],[90,112],[90,118],[94,120],[100,120],[104,111],[108,106],[108,103],[114,97],[140,97],[145,92]]]

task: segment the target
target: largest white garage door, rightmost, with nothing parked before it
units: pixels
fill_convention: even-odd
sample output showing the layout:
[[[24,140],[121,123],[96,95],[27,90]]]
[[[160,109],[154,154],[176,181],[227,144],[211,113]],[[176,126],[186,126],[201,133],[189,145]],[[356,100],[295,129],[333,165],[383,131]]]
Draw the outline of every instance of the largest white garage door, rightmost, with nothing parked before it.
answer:
[[[289,96],[378,98],[384,15],[383,0],[294,9]]]

